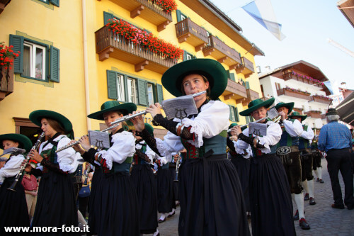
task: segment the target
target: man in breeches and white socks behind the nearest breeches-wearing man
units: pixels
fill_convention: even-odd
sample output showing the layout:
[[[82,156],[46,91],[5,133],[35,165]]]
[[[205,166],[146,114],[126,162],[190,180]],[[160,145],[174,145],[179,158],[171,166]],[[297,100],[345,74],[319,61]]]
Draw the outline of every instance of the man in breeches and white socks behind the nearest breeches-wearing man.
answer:
[[[299,120],[301,123],[307,118],[307,115],[300,115],[299,112],[294,111],[289,118]],[[304,128],[304,131],[299,137],[299,152],[301,158],[301,181],[306,191],[304,201],[309,200],[310,205],[315,205],[314,176],[312,175],[313,155],[310,147],[310,140],[314,138],[314,131],[308,125],[302,125],[302,128]]]

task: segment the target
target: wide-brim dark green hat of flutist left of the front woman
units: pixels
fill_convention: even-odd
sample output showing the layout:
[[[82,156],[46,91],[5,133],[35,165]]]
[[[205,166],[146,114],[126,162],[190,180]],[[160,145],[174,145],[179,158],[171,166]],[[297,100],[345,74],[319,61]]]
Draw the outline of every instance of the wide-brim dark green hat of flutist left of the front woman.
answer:
[[[104,120],[103,113],[108,111],[120,111],[126,116],[133,111],[137,111],[137,105],[135,103],[120,103],[119,101],[106,101],[101,106],[101,111],[96,111],[91,113],[89,118],[96,119],[96,120]]]

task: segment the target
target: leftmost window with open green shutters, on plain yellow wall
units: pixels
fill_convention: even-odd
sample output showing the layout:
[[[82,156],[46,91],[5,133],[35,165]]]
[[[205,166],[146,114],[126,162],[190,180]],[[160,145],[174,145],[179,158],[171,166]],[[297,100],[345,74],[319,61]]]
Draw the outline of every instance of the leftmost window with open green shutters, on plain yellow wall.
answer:
[[[59,82],[59,49],[19,35],[10,35],[13,51],[20,52],[13,62],[13,71],[21,77]]]

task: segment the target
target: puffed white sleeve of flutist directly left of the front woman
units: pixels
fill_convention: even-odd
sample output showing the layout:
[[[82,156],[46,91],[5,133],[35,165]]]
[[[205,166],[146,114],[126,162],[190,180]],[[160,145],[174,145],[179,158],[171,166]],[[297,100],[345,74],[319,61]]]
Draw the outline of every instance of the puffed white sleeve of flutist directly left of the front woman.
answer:
[[[116,133],[112,136],[112,142],[113,145],[108,150],[98,152],[105,159],[108,169],[112,169],[113,162],[122,164],[127,157],[135,154],[135,137],[132,133],[127,131]]]

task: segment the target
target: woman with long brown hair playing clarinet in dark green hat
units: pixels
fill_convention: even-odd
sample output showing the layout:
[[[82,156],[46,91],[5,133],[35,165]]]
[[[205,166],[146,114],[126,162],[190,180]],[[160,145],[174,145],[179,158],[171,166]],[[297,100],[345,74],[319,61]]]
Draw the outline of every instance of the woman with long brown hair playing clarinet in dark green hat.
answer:
[[[71,141],[72,123],[62,114],[48,110],[33,111],[30,120],[40,126],[48,138],[38,152],[30,150],[31,159],[43,167],[32,226],[76,227],[77,208],[70,174],[76,171],[80,155],[73,148],[55,152]]]

